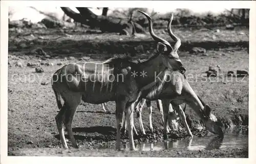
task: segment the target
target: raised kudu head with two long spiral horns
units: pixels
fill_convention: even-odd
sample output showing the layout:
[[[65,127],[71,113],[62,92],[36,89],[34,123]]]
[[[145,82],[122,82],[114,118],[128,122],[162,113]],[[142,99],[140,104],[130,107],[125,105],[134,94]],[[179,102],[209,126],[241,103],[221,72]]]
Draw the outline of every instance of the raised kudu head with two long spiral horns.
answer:
[[[180,71],[181,73],[185,73],[186,68],[183,67],[181,60],[179,59],[179,55],[177,54],[177,51],[181,45],[180,38],[174,35],[171,29],[172,21],[173,21],[173,14],[168,22],[167,30],[170,37],[176,42],[174,45],[174,48],[170,45],[170,43],[163,38],[160,38],[153,32],[153,23],[152,18],[147,15],[146,13],[137,10],[138,12],[144,14],[148,20],[148,28],[150,30],[150,34],[153,37],[155,41],[157,41],[157,52],[158,55],[162,55],[163,57],[163,64],[173,71]]]

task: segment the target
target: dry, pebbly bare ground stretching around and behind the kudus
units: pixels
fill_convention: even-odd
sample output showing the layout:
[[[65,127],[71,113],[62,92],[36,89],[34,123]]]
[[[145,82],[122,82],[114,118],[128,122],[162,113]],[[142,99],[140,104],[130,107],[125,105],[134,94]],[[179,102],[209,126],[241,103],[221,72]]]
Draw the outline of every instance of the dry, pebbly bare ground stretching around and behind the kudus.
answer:
[[[214,31],[214,30],[212,30]],[[231,124],[248,125],[248,77],[245,78],[227,78],[228,71],[237,69],[248,71],[249,55],[246,46],[248,45],[248,29],[240,29],[236,31],[215,32],[194,31],[181,34],[183,47],[181,47],[179,55],[181,61],[187,68],[186,74],[191,87],[196,93],[202,97],[205,103],[209,104],[214,114],[216,114],[228,127]],[[31,31],[25,30],[24,34]],[[38,31],[34,31],[36,33]],[[161,31],[160,31],[161,32]],[[158,32],[158,33],[160,33]],[[193,33],[193,35],[189,35]],[[195,34],[194,34],[195,33]],[[212,33],[217,38],[212,39]],[[44,34],[44,35],[43,35]],[[169,157],[246,157],[248,148],[241,150],[215,150],[202,152],[184,151],[177,155],[177,151],[161,151],[161,152],[140,152],[117,153],[115,151],[96,150],[99,147],[108,148],[115,143],[116,120],[115,120],[115,104],[107,103],[111,109],[111,113],[104,113],[101,105],[82,103],[78,106],[77,113],[73,122],[73,131],[79,145],[84,149],[90,150],[89,154],[79,154],[78,150],[61,150],[53,149],[60,147],[59,136],[55,123],[55,115],[58,112],[54,93],[51,89],[50,79],[57,68],[59,62],[68,63],[75,62],[81,57],[88,57],[86,61],[103,61],[106,58],[123,53],[131,52],[135,49],[138,53],[135,59],[145,59],[154,53],[155,45],[148,36],[138,36],[131,38],[114,34],[85,34],[85,33],[69,33],[53,31],[41,31],[36,35],[45,38],[55,38],[63,35],[62,38],[55,41],[32,40],[32,35],[24,36],[29,40],[15,38],[17,33],[13,30],[9,31],[9,67],[8,67],[8,152],[9,155],[77,155],[81,156],[169,156]],[[21,35],[21,34],[19,34]],[[162,34],[164,35],[164,34]],[[181,36],[182,35],[182,36]],[[194,37],[196,35],[196,37]],[[167,36],[165,36],[167,38]],[[205,40],[205,39],[206,40]],[[106,42],[108,41],[109,42]],[[143,40],[143,42],[142,42]],[[168,38],[168,40],[170,40]],[[187,42],[186,42],[187,41]],[[25,43],[21,46],[22,43]],[[208,56],[191,55],[187,52],[191,49],[191,45],[202,45],[207,50]],[[200,44],[201,43],[201,44]],[[225,44],[226,43],[226,44]],[[141,48],[142,45],[143,49]],[[150,48],[150,45],[152,47]],[[31,50],[40,47],[51,58],[41,58],[31,53]],[[114,51],[113,49],[119,48]],[[64,57],[74,56],[71,60]],[[27,62],[52,62],[53,66],[41,65],[44,69],[43,73],[35,73],[34,67],[26,66]],[[15,66],[15,62],[20,61],[23,67]],[[205,71],[208,66],[221,66],[222,77],[205,78]],[[41,85],[41,82],[48,83]],[[136,137],[136,142],[145,141],[161,141],[162,126],[160,123],[160,113],[153,104],[153,127],[155,135],[148,132],[148,116],[146,110],[142,114],[146,136]],[[195,129],[196,120],[194,112],[187,108],[186,115],[191,122],[189,125],[193,129],[195,135],[209,135],[208,131]],[[139,130],[138,121],[135,119],[135,126]],[[66,136],[67,137],[67,136]],[[184,130],[177,133],[169,134],[170,139],[186,137]],[[67,137],[68,138],[68,137]],[[127,141],[127,134],[122,135],[123,142]],[[68,142],[69,145],[70,142]],[[28,148],[23,150],[22,148]],[[36,148],[36,150],[29,150]],[[39,151],[41,148],[42,149]],[[95,148],[95,149],[92,149]],[[93,151],[92,151],[93,150]],[[37,153],[36,153],[37,152]],[[58,153],[62,152],[62,153]],[[221,155],[222,154],[222,155]],[[247,154],[247,155],[246,155]]]

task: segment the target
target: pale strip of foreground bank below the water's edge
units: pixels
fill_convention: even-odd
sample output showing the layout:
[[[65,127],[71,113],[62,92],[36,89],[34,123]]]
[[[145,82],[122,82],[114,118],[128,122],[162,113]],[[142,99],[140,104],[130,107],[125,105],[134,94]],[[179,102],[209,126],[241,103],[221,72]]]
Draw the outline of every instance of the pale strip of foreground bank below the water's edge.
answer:
[[[185,157],[185,158],[248,158],[248,147],[225,150],[161,150],[116,151],[110,149],[21,149],[8,152],[8,156],[94,156],[94,157]]]

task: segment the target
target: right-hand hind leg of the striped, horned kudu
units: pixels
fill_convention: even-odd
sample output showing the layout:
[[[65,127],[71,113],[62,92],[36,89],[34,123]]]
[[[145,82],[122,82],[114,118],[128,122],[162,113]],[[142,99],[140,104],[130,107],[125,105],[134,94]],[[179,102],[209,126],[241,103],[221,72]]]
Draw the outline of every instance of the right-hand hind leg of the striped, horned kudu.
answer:
[[[75,140],[75,137],[74,137],[73,131],[72,131],[72,122],[74,119],[76,108],[81,102],[81,95],[76,93],[76,94],[72,95],[72,98],[70,98],[68,100],[69,100],[69,103],[67,104],[67,109],[65,112],[65,126],[68,131],[68,134],[69,134],[69,137],[70,137],[73,147],[78,148],[78,145],[76,143],[76,140]]]

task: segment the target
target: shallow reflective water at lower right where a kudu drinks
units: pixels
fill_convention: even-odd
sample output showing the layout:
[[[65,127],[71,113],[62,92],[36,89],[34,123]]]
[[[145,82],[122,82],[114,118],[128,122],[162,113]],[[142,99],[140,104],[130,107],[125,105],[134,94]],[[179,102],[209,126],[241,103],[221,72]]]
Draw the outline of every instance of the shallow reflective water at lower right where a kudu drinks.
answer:
[[[138,143],[136,149],[140,151],[156,150],[214,150],[214,149],[237,149],[248,147],[248,135],[242,131],[226,133],[224,138],[218,136],[205,136],[193,139],[181,139],[169,142]],[[129,150],[129,144],[123,145],[123,150]]]

